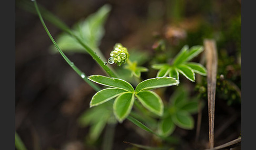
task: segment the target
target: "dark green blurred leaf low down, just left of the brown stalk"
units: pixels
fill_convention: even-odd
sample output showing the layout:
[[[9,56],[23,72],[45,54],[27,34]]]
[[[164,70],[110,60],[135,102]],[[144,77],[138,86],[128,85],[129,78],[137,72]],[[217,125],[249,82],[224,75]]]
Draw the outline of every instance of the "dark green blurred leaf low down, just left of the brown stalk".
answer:
[[[194,119],[191,114],[198,112],[198,97],[189,99],[188,91],[179,87],[173,93],[169,104],[165,106],[164,115],[159,122],[159,134],[169,136],[179,126],[186,130],[194,128]]]

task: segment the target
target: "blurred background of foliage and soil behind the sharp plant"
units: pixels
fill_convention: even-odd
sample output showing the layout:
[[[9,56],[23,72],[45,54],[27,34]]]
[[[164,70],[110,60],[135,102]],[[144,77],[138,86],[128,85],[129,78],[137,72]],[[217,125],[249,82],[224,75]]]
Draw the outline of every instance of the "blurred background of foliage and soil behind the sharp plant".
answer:
[[[241,1],[37,1],[80,35],[102,59],[116,42],[128,48],[131,62],[148,69],[141,77],[125,66],[112,65],[122,79],[133,85],[154,78],[155,63],[170,63],[184,45],[203,45],[212,38],[218,49],[215,104],[215,145],[229,142],[241,132]],[[105,5],[106,4],[106,5]],[[143,149],[168,146],[173,149],[203,149],[208,142],[206,78],[192,83],[181,78],[186,100],[202,105],[200,136],[195,141],[198,114],[191,114],[192,130],[165,128],[165,140],[142,131],[129,121],[116,124],[108,103],[89,109],[94,90],[66,64],[48,39],[30,1],[16,1],[16,115],[15,126],[27,149],[104,149],[104,136],[112,131],[113,149]],[[94,14],[93,14],[94,13]],[[80,45],[61,29],[46,22],[67,56],[86,75],[104,72]],[[104,60],[105,61],[105,60]],[[193,59],[204,65],[203,53]],[[108,64],[109,65],[109,64]],[[127,68],[127,67],[126,67]],[[179,87],[157,89],[165,104]],[[167,106],[167,105],[166,105]],[[171,107],[172,105],[170,105]],[[110,109],[109,109],[110,108]],[[193,105],[192,108],[198,108]],[[166,107],[166,109],[170,109]],[[159,122],[147,111],[132,116],[154,130]],[[158,123],[157,123],[158,122]],[[169,122],[170,123],[170,122]],[[109,125],[107,125],[109,124]],[[191,127],[191,124],[190,124]],[[106,130],[108,128],[108,130]],[[111,129],[110,129],[111,128]],[[110,130],[109,130],[110,129]],[[123,141],[136,143],[127,144]],[[152,148],[151,147],[151,148]],[[144,149],[149,147],[144,147]]]

